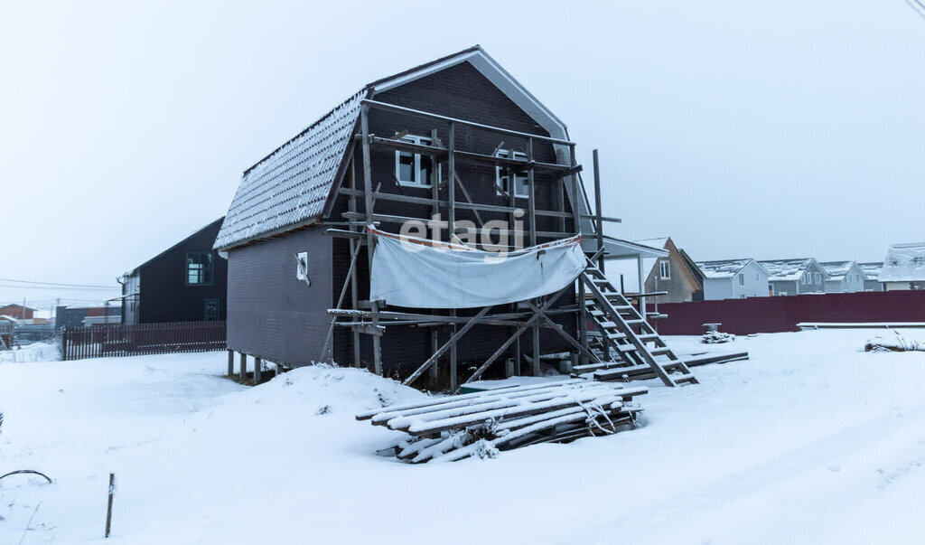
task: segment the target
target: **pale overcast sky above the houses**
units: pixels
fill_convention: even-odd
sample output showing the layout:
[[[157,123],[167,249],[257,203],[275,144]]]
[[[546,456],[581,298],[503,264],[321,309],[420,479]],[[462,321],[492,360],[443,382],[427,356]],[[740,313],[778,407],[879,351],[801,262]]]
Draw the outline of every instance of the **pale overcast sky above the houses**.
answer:
[[[615,236],[697,260],[925,241],[925,18],[904,0],[9,2],[0,279],[117,286],[364,83],[475,43],[588,174],[600,149]]]

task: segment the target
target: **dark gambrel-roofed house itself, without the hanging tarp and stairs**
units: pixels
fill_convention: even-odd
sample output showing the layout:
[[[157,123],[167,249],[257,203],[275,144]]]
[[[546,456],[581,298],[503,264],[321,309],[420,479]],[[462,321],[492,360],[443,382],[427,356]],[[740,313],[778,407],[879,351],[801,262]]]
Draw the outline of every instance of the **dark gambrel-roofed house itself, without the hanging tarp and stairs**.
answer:
[[[373,242],[364,227],[399,232],[439,215],[448,227],[438,236],[449,241],[463,222],[501,220],[523,226],[498,231],[509,242],[578,232],[593,254],[600,216],[588,211],[580,170],[561,120],[479,46],[366,85],[244,172],[215,244],[228,255],[228,349],[402,378],[433,361],[437,379],[441,362],[453,388],[457,373],[495,359],[508,375],[522,361],[538,372],[537,356],[573,352],[565,335],[584,335],[581,282],[549,301],[557,327],[531,321],[532,303],[475,319],[475,310],[383,308],[368,301]],[[348,313],[337,327],[335,307]]]

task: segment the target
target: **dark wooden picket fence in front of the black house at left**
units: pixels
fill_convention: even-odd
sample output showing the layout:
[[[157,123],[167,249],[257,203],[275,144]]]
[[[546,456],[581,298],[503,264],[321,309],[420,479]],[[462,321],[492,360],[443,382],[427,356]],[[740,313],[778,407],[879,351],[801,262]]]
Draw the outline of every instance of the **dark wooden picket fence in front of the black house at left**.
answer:
[[[101,324],[61,331],[65,360],[148,353],[186,353],[225,350],[225,322],[164,324]]]

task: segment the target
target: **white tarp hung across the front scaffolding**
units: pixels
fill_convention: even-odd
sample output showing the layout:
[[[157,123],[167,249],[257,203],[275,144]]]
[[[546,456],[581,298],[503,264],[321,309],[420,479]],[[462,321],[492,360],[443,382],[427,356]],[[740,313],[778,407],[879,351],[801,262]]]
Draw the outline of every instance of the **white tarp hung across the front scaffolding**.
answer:
[[[579,236],[501,254],[370,230],[376,234],[370,299],[397,306],[515,303],[560,291],[586,264]]]

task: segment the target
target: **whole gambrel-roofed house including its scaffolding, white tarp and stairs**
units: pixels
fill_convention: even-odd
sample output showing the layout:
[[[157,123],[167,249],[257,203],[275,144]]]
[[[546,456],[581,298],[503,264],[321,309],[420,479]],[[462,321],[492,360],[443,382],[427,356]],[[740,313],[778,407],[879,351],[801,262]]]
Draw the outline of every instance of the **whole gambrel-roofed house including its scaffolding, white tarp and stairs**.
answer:
[[[215,244],[228,349],[450,390],[563,353],[601,378],[695,381],[647,294],[600,270],[664,253],[604,237],[616,220],[581,170],[561,120],[479,46],[366,85],[244,172]],[[519,261],[481,259],[499,251]]]

